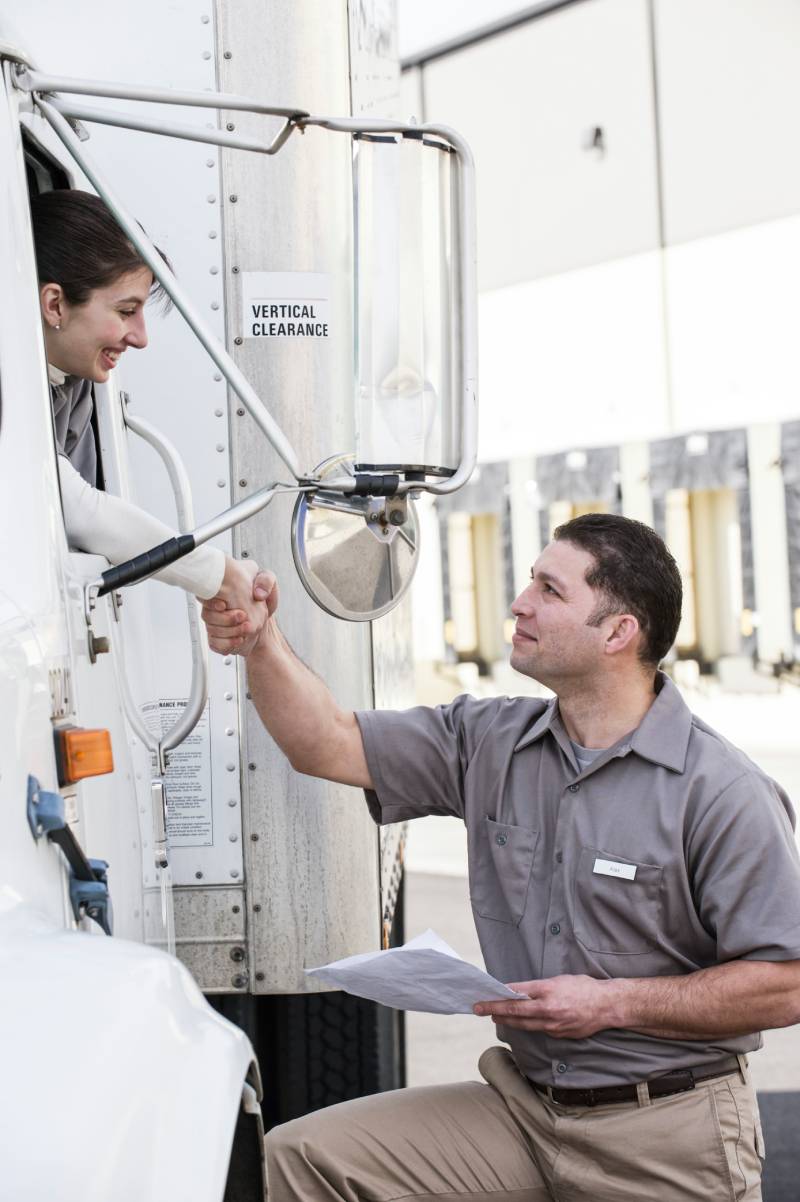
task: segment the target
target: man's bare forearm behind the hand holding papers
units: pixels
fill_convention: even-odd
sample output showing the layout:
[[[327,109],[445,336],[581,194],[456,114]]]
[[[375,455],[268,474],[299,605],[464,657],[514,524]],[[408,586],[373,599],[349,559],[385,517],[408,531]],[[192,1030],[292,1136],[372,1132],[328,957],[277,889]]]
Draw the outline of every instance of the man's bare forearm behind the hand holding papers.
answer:
[[[800,1022],[800,964],[732,960],[680,977],[604,982],[613,1024],[662,1039],[747,1035]]]

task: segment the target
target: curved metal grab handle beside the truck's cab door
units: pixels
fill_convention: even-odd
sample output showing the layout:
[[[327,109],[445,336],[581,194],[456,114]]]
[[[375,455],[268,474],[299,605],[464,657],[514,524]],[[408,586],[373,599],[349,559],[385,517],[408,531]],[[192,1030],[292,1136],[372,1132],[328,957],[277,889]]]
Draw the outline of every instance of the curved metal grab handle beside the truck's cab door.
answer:
[[[172,490],[175,498],[178,529],[181,531],[183,536],[181,538],[173,541],[177,543],[186,542],[186,551],[191,551],[195,540],[190,534],[187,534],[187,531],[195,525],[192,494],[189,483],[189,475],[180,456],[178,454],[178,451],[172,442],[154,426],[150,426],[149,422],[143,421],[141,417],[133,417],[127,409],[124,410],[124,417],[126,427],[132,430],[133,434],[137,434],[141,439],[148,442],[166,466],[167,475],[169,476],[169,483],[172,484]],[[179,555],[175,555],[174,558],[178,559]],[[205,707],[205,700],[208,697],[208,638],[205,636],[205,626],[199,618],[197,601],[190,594],[186,594],[186,611],[189,617],[189,633],[192,645],[192,680],[189,690],[189,698],[184,706],[180,718],[173,722],[167,733],[157,742],[156,748],[151,748],[151,750],[155,750],[159,756],[160,768],[162,766],[166,767],[165,756],[167,751],[172,751],[173,748],[177,748],[195,730],[201,719]]]

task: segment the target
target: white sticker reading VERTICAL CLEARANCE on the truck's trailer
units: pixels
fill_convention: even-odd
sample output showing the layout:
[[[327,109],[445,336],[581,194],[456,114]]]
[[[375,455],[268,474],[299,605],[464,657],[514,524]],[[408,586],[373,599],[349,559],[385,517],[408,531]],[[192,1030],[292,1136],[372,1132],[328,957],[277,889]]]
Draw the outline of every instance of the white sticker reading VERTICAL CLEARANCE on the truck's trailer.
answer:
[[[243,272],[245,338],[330,337],[330,276],[318,272]]]

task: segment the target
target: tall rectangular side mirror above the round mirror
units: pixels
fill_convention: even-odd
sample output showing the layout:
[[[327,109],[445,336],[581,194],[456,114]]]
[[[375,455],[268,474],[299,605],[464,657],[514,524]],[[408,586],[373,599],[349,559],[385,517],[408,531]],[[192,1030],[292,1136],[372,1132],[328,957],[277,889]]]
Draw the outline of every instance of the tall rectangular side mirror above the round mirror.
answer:
[[[357,471],[449,478],[462,427],[459,160],[422,133],[353,145]]]

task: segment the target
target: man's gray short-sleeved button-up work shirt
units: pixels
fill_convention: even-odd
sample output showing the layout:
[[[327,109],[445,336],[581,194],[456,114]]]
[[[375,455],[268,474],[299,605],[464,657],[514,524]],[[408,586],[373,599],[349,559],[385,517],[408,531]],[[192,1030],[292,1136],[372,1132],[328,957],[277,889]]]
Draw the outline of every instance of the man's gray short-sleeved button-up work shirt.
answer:
[[[637,730],[584,770],[555,701],[458,697],[357,715],[376,821],[447,814],[466,823],[474,921],[501,981],[800,959],[789,799],[692,715],[667,677],[657,688]],[[762,1042],[498,1034],[531,1079],[575,1089],[712,1064]]]

